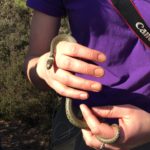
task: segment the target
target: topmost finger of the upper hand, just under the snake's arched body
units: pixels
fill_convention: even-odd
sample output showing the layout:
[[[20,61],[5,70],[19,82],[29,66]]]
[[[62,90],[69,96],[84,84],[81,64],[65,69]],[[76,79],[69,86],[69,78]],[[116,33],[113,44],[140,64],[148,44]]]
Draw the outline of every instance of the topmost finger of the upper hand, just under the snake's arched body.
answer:
[[[63,54],[72,57],[78,57],[97,62],[104,62],[106,60],[106,56],[102,52],[90,49],[77,43],[62,41],[58,43],[56,49],[57,51],[60,51],[61,53],[63,52]]]

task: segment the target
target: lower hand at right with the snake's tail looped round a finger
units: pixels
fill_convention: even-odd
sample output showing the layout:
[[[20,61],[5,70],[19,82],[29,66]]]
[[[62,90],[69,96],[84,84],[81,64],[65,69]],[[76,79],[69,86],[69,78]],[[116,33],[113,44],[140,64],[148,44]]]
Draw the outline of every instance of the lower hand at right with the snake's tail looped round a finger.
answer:
[[[89,129],[82,130],[83,138],[87,146],[98,149],[102,143],[95,135],[112,138],[114,129],[106,123],[100,122],[100,118],[118,118],[120,127],[120,137],[114,144],[106,144],[110,150],[128,150],[144,143],[150,142],[150,113],[132,106],[105,106],[93,107],[90,110],[86,105],[80,106],[83,117]]]

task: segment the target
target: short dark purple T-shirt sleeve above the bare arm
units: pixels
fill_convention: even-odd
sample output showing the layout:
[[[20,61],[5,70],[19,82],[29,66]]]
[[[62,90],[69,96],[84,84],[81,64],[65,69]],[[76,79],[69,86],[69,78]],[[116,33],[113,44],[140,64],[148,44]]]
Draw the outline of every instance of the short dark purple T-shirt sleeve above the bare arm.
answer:
[[[50,16],[61,17],[65,15],[62,0],[27,0],[27,6]]]

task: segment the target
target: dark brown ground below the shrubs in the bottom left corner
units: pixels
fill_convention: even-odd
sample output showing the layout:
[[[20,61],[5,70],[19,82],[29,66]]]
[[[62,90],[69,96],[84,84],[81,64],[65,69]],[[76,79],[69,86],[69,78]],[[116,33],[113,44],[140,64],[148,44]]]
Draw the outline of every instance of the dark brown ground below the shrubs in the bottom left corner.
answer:
[[[21,121],[0,121],[0,150],[48,150],[49,135]]]

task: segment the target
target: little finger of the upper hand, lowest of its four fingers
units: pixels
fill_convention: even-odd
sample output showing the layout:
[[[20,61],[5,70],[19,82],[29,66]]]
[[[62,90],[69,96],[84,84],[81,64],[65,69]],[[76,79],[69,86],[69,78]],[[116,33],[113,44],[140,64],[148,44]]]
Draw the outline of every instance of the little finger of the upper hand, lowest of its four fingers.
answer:
[[[58,94],[62,96],[70,97],[73,99],[81,99],[81,100],[88,98],[87,92],[67,87],[56,80],[50,81],[49,84],[50,87],[52,87]]]

